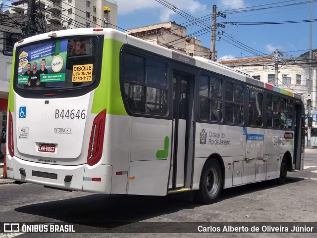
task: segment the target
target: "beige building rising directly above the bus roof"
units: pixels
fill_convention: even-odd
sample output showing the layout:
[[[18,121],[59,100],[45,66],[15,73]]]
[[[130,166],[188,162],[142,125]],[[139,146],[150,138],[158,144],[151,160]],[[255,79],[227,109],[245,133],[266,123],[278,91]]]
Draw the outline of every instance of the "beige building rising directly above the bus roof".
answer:
[[[187,36],[186,27],[175,22],[164,22],[129,29],[125,33],[191,56],[209,58],[210,55],[209,48],[203,47],[200,40]]]

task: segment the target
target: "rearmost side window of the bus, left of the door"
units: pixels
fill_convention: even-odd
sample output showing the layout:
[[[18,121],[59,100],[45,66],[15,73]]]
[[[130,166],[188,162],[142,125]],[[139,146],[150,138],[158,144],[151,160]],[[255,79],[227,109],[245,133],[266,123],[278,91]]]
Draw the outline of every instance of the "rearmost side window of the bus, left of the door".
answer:
[[[124,90],[130,111],[167,115],[166,75],[164,62],[124,53]]]

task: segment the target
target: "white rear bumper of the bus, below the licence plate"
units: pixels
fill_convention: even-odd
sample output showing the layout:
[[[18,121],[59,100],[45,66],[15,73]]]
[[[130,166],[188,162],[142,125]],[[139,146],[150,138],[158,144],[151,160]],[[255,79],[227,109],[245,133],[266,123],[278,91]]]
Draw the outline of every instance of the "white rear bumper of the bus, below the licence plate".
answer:
[[[112,166],[110,165],[44,164],[11,157],[8,154],[6,161],[9,179],[66,190],[111,192]],[[64,181],[67,175],[72,175],[70,182]]]

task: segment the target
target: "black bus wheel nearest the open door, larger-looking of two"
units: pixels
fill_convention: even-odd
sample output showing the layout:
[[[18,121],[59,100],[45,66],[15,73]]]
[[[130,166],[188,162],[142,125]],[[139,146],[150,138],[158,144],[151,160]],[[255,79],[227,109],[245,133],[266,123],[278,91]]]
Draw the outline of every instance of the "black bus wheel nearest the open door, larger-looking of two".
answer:
[[[217,200],[222,189],[222,171],[215,159],[207,161],[203,168],[199,190],[195,192],[195,199],[202,203],[213,203]]]

